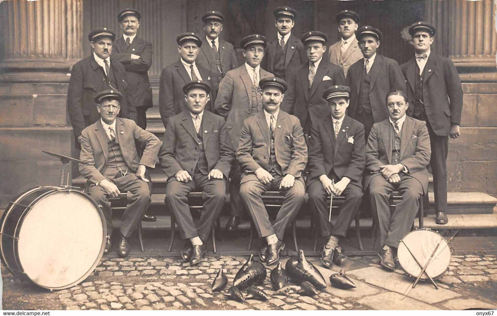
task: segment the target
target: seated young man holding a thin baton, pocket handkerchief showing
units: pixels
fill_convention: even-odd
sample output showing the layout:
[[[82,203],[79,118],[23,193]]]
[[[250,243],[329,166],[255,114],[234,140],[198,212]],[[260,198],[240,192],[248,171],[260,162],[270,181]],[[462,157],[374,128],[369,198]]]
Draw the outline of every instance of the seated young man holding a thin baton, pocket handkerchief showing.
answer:
[[[362,198],[364,126],[346,115],[349,96],[350,89],[346,86],[331,86],[323,92],[331,115],[313,124],[309,143],[309,207],[317,218],[321,235],[328,238],[321,255],[321,262],[328,268],[347,259],[338,241],[345,237]],[[334,225],[329,220],[327,205],[332,194],[345,197]]]

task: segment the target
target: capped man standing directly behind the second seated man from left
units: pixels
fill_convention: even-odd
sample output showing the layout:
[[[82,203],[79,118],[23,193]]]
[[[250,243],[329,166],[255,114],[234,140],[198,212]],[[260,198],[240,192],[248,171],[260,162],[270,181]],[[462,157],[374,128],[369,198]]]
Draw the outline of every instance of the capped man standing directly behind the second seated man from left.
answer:
[[[191,80],[203,80],[212,84],[209,68],[197,65],[196,60],[202,39],[195,33],[181,33],[176,37],[179,60],[162,70],[159,82],[159,112],[164,126],[167,119],[186,109],[183,86]],[[214,105],[212,91],[206,109],[212,111]],[[167,126],[166,126],[167,127]]]

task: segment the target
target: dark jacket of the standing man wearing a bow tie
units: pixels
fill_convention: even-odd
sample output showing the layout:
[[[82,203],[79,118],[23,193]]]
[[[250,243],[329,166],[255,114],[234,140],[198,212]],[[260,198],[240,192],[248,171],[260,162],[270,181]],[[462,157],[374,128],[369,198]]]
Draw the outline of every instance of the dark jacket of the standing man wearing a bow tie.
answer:
[[[411,106],[408,115],[414,110],[414,78],[416,60],[411,59],[401,66],[406,78],[407,96]],[[450,133],[450,124],[461,123],[463,90],[456,67],[449,58],[431,53],[424,66],[423,102],[431,128],[438,136]]]

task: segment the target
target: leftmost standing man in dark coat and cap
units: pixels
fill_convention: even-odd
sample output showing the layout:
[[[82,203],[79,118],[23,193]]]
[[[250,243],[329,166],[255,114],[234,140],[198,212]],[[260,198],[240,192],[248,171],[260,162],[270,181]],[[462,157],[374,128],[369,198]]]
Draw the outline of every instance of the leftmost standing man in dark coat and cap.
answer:
[[[94,103],[95,95],[103,90],[116,90],[123,95],[121,112],[124,118],[136,121],[134,100],[125,80],[126,70],[114,58],[111,60],[113,41],[116,34],[107,28],[96,28],[89,32],[88,41],[92,54],[77,62],[71,71],[67,92],[67,107],[73,126],[76,146],[81,143],[82,130],[100,119]]]

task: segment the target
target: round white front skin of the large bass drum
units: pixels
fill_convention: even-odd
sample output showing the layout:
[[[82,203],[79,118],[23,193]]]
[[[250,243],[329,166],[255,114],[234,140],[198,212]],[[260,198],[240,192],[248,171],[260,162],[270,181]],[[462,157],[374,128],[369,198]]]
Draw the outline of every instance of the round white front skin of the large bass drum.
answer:
[[[54,191],[25,216],[18,256],[24,273],[47,289],[65,289],[83,281],[105,247],[103,214],[86,194]]]

